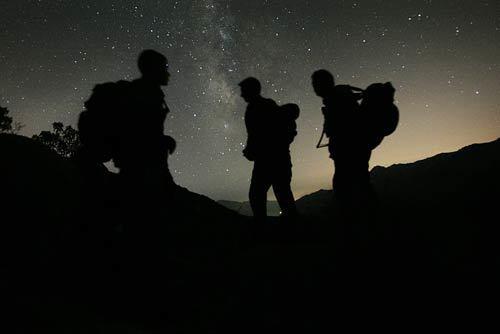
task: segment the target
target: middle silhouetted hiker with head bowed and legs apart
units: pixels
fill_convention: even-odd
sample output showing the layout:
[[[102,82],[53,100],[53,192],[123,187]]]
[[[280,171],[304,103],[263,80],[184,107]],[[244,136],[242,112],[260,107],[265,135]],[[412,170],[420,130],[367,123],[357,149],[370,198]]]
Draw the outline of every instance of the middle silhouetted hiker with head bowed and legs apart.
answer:
[[[287,126],[282,122],[287,120],[280,117],[276,102],[261,96],[257,79],[247,78],[239,86],[241,97],[248,103],[245,112],[248,138],[243,155],[254,162],[249,191],[253,215],[256,219],[267,216],[267,192],[272,186],[283,216],[294,216],[296,207],[290,188],[292,163],[289,146],[296,134],[295,129],[283,130]]]

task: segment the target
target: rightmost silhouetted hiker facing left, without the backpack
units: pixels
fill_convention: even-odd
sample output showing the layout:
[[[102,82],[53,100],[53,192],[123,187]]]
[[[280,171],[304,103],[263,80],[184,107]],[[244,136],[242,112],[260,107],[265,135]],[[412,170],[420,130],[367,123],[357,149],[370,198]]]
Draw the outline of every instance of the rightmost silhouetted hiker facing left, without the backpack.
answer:
[[[333,75],[326,70],[313,73],[312,86],[316,95],[323,98],[323,131],[329,138],[328,150],[335,164],[334,194],[344,208],[356,207],[371,192],[368,170],[371,150],[358,104],[362,90],[335,85]]]

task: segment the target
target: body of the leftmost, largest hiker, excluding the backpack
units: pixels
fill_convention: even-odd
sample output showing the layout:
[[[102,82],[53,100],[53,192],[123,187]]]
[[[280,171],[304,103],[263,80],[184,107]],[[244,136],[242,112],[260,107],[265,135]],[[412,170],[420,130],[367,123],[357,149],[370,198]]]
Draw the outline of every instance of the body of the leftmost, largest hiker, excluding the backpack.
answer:
[[[164,135],[169,113],[165,94],[170,74],[167,58],[154,50],[144,50],[138,58],[141,77],[128,87],[127,106],[118,120],[120,143],[115,164],[127,183],[146,191],[162,191],[174,184],[168,169],[168,154],[175,140]]]

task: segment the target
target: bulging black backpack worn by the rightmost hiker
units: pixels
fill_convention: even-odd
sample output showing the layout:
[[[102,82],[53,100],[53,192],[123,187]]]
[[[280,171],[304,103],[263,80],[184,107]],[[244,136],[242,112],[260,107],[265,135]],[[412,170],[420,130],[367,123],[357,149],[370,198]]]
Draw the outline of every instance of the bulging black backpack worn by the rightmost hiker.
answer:
[[[371,150],[384,137],[391,135],[399,123],[399,109],[394,104],[395,89],[390,82],[374,83],[363,93],[360,109],[366,126],[367,143]]]

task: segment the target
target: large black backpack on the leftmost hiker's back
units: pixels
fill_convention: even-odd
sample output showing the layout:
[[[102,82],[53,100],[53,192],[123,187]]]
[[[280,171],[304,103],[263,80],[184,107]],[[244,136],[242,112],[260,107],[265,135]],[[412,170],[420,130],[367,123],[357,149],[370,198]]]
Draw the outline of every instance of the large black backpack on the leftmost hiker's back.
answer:
[[[96,85],[78,118],[82,145],[100,162],[110,161],[118,150],[121,119],[130,107],[130,84],[120,80]]]

